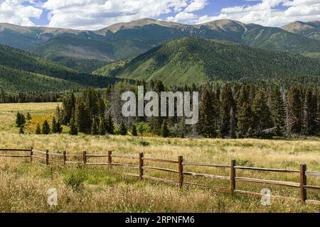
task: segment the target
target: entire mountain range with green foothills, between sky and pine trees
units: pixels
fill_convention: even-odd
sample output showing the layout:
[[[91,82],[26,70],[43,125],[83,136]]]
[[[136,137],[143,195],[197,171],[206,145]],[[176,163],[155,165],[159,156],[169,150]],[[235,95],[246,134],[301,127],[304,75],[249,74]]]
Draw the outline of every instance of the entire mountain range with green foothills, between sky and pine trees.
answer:
[[[122,79],[161,79],[166,85],[239,79],[319,84],[319,33],[319,21],[272,28],[144,18],[98,31],[0,23],[0,87],[56,91]]]

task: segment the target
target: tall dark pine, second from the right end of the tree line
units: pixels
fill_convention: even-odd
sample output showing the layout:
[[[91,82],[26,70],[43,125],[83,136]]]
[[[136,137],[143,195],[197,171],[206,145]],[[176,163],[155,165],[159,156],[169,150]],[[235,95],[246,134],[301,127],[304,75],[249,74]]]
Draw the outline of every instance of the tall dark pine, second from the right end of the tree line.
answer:
[[[292,86],[289,89],[287,100],[288,120],[291,124],[291,133],[301,134],[303,124],[303,104],[302,91],[297,86]]]

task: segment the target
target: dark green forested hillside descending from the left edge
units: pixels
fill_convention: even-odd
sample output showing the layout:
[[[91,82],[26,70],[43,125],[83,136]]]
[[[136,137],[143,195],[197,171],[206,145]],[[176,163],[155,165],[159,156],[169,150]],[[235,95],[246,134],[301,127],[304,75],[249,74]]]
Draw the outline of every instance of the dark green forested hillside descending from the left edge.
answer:
[[[0,74],[1,81],[6,84],[4,81],[10,79],[9,88],[14,90],[20,90],[20,88],[22,90],[29,89],[29,91],[33,91],[60,90],[84,86],[105,87],[107,84],[115,82],[115,79],[112,78],[82,74],[67,67],[57,65],[43,57],[38,57],[6,45],[0,45],[0,66],[6,69]],[[42,83],[36,79],[38,77],[36,74],[46,75],[46,77],[42,77],[45,78]],[[13,76],[9,78],[9,75]],[[23,88],[21,87],[21,82],[26,79],[27,75],[28,80],[30,80],[28,83],[30,84],[31,81],[34,81],[34,86]],[[39,84],[43,84],[43,88],[39,87]],[[8,87],[5,86],[5,88],[7,89]]]

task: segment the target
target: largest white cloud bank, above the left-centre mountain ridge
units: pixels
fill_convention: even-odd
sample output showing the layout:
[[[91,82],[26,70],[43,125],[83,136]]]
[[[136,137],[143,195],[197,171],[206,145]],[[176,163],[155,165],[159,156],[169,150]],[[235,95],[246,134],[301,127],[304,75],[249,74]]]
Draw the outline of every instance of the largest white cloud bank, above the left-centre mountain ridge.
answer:
[[[198,0],[48,0],[43,9],[50,11],[50,27],[98,29],[113,23],[180,13],[188,6],[199,8],[195,2]]]

